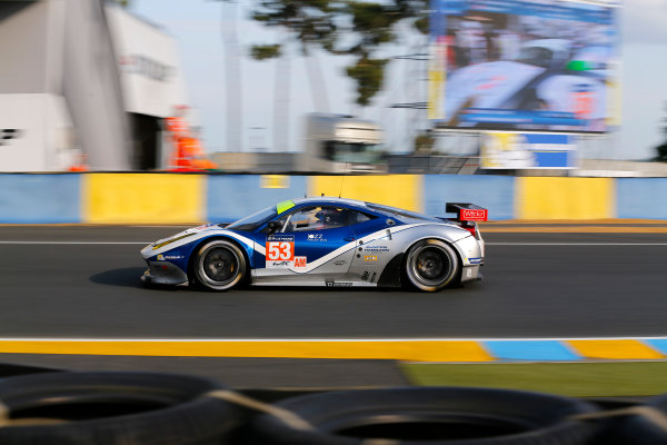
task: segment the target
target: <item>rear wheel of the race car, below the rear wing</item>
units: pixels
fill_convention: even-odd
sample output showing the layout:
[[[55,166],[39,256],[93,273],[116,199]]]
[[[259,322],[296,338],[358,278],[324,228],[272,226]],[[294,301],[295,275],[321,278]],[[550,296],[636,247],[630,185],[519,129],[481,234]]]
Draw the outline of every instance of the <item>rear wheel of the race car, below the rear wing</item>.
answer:
[[[438,291],[457,281],[460,267],[450,245],[439,239],[424,239],[405,255],[404,277],[418,290]]]

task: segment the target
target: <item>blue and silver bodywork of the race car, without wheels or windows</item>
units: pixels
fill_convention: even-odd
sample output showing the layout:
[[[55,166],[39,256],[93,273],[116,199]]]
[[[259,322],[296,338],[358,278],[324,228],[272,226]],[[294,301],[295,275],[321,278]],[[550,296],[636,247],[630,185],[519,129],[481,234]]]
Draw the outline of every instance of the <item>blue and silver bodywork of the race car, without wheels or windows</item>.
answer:
[[[286,216],[289,220],[290,215],[313,206],[359,212],[364,220],[319,230],[269,229],[269,222]],[[480,278],[484,240],[478,231],[455,221],[328,197],[295,199],[275,206],[273,211],[262,211],[257,214],[255,226],[239,221],[229,227],[205,225],[146,246],[141,250],[148,264],[145,280],[168,285],[191,281],[192,260],[215,239],[230,240],[242,250],[248,281],[253,286],[400,286],[402,256],[416,243],[429,239],[455,249],[460,263],[457,280]],[[285,246],[286,256],[272,258],[278,245]]]

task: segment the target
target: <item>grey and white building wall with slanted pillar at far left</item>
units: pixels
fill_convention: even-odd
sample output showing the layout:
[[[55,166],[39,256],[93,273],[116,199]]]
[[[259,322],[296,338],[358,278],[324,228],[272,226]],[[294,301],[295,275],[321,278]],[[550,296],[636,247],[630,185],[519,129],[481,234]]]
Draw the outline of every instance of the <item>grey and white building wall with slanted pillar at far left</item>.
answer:
[[[0,115],[24,115],[16,127],[0,121],[0,130],[16,128],[30,138],[16,157],[0,154],[0,171],[62,171],[72,162],[61,159],[59,150],[72,149],[73,158],[77,147],[88,155],[91,169],[131,169],[102,0],[0,1]],[[36,100],[42,101],[37,111]],[[53,129],[70,123],[77,138],[61,147],[60,130]]]

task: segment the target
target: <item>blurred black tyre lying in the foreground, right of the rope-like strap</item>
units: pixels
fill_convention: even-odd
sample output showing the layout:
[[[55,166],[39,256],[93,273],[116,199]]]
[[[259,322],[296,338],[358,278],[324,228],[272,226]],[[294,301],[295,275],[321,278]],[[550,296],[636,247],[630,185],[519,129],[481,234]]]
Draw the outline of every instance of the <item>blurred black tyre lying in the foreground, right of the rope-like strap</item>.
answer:
[[[262,414],[251,422],[246,443],[359,445],[382,438],[404,445],[584,445],[598,429],[569,418],[596,412],[595,405],[509,389],[362,389],[293,397],[277,406],[311,428]]]

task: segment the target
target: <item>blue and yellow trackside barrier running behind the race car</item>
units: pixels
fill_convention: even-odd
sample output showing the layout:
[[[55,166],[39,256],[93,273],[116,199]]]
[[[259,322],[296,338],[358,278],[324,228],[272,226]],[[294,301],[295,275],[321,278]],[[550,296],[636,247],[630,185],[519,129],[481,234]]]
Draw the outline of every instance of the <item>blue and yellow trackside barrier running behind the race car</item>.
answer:
[[[446,201],[475,202],[491,220],[667,219],[667,178],[91,172],[0,175],[0,224],[229,221],[321,194],[437,216]]]

